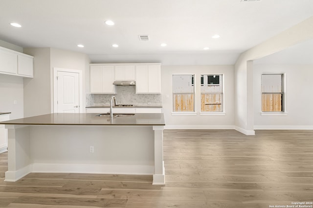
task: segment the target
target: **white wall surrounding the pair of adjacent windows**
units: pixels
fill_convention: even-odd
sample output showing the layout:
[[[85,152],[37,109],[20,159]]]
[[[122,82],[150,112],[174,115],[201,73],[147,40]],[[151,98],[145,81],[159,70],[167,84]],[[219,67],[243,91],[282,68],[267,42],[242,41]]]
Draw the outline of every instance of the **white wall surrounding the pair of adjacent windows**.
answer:
[[[172,115],[173,111],[173,74],[194,74],[196,84],[197,115]],[[200,115],[201,74],[224,74],[225,115]],[[232,65],[206,66],[161,66],[162,103],[165,128],[189,129],[232,129],[234,124],[234,67]]]

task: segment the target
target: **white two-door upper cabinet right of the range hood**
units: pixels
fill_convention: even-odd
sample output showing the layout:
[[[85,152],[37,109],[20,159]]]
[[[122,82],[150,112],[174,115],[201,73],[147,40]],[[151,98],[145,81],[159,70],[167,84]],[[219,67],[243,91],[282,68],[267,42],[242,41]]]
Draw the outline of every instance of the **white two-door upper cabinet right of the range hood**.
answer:
[[[161,93],[160,65],[136,66],[136,93]]]

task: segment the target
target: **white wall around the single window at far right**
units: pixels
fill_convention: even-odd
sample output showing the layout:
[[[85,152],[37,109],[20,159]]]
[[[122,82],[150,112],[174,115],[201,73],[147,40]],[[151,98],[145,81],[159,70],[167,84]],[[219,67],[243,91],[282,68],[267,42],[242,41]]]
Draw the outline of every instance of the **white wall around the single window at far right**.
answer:
[[[254,64],[255,129],[313,129],[313,65]],[[261,75],[285,73],[287,115],[261,115]]]

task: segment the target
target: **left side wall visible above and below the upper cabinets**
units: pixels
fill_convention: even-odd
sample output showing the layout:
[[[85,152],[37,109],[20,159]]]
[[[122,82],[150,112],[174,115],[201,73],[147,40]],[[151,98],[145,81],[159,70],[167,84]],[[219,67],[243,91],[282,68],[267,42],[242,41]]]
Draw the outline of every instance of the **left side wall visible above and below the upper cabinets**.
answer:
[[[3,40],[0,46],[23,52],[23,48]],[[16,104],[14,104],[16,100]],[[11,112],[10,119],[23,117],[23,78],[0,74],[0,112]]]

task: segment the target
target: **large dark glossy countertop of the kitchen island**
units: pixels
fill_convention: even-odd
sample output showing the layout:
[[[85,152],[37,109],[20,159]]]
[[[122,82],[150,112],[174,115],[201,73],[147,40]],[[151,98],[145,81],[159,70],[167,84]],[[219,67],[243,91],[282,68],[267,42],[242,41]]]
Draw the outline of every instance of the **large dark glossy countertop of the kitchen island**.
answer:
[[[163,113],[137,113],[133,116],[104,117],[99,113],[50,113],[9,121],[12,125],[83,125],[83,126],[165,126]]]

